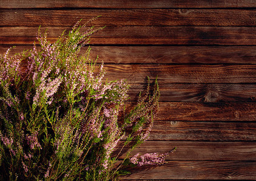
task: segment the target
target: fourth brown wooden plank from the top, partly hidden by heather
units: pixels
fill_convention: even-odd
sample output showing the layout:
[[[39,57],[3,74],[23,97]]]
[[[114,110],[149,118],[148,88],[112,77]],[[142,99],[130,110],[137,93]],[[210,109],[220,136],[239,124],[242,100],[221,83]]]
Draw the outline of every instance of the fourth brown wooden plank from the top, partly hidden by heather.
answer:
[[[11,45],[0,45],[3,54]],[[31,49],[18,45],[10,55]],[[104,64],[256,64],[255,46],[91,46],[90,56]],[[81,49],[81,54],[87,48]]]

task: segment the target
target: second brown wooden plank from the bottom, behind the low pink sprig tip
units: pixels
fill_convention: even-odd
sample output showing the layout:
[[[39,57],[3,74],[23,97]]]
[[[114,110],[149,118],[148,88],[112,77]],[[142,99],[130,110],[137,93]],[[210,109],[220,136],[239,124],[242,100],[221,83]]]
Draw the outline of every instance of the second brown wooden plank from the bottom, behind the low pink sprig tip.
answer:
[[[113,156],[121,150],[116,148]],[[177,147],[177,151],[166,157],[166,160],[256,160],[255,142],[198,142],[198,141],[146,141],[130,153],[133,156],[137,153],[164,154]],[[119,159],[126,157],[127,148],[119,154]]]

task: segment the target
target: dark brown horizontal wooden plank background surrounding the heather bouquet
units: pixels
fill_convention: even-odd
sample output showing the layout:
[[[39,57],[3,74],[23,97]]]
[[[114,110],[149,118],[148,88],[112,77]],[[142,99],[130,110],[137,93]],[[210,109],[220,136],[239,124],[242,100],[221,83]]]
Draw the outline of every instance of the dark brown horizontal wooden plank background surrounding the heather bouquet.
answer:
[[[0,0],[0,52],[31,48],[39,25],[54,40],[98,15],[107,27],[90,45],[106,76],[127,78],[134,101],[158,75],[160,113],[134,154],[177,147],[123,179],[255,180],[256,1]]]

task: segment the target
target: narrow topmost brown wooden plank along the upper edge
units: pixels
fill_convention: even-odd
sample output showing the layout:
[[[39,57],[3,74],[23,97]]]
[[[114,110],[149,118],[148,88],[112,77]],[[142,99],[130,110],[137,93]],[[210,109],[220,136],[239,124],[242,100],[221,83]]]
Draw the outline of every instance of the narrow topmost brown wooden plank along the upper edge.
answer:
[[[256,7],[252,0],[1,0],[0,8],[241,8]]]

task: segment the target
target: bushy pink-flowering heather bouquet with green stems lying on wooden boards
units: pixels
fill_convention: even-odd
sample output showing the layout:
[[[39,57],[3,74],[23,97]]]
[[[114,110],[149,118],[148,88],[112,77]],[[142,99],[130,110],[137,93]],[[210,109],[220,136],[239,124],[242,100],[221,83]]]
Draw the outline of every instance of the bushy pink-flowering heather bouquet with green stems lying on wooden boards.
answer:
[[[149,138],[157,81],[126,106],[126,81],[107,81],[90,48],[79,55],[98,30],[76,24],[53,43],[39,30],[39,46],[1,55],[0,180],[116,180],[132,165],[165,162],[167,154],[130,156]]]

